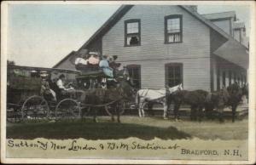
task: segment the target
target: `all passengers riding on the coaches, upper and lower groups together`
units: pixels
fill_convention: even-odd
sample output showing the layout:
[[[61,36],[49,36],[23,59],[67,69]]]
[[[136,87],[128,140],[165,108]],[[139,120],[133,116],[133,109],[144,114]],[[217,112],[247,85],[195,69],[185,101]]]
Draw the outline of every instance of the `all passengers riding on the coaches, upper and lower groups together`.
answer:
[[[108,77],[109,80],[114,79],[115,71],[119,67],[119,63],[116,63],[115,60],[117,59],[117,56],[108,56],[103,55],[102,58],[100,58],[100,55],[96,52],[88,52],[87,49],[82,49],[79,52],[79,57],[76,58],[74,61],[74,64],[76,66],[76,69],[79,71],[86,71],[89,67],[100,67],[102,68],[102,71],[104,74]],[[54,100],[56,101],[59,97],[59,95],[73,95],[79,91],[73,88],[73,86],[69,83],[65,85],[65,75],[61,74],[57,80],[51,81],[50,77],[47,75],[42,75],[42,87],[40,94],[44,95],[44,97],[47,100]]]

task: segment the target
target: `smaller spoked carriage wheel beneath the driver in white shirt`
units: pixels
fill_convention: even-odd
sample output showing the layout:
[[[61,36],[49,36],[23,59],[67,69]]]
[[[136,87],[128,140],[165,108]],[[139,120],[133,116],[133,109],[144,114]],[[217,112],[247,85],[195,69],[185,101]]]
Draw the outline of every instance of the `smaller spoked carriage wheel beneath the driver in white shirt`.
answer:
[[[61,100],[55,108],[56,120],[73,120],[80,118],[80,104],[73,99]]]

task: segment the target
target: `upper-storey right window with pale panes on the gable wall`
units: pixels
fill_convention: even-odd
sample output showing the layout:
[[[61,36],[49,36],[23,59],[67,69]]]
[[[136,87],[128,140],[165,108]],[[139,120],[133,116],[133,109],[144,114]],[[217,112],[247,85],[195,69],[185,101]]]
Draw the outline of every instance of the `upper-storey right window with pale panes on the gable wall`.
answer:
[[[168,15],[165,17],[165,43],[182,43],[183,41],[182,15]]]

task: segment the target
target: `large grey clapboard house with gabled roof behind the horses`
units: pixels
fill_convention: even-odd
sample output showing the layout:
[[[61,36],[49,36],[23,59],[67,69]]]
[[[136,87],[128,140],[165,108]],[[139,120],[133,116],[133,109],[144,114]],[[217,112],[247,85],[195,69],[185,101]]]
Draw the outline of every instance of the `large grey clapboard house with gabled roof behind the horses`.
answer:
[[[247,82],[248,43],[235,12],[198,14],[196,6],[123,5],[90,39],[54,67],[74,69],[83,48],[118,55],[138,88],[183,83],[217,90]]]

